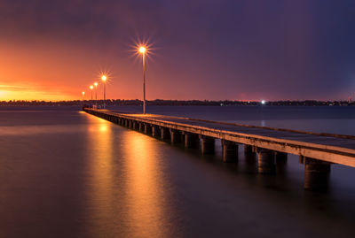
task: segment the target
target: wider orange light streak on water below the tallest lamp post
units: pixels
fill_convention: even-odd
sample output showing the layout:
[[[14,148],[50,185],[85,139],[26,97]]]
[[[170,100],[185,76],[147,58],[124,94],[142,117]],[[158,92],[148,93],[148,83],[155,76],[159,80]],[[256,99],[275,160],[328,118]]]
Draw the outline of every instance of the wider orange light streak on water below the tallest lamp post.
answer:
[[[124,157],[128,216],[131,236],[159,237],[166,234],[167,212],[164,212],[164,180],[162,178],[162,156],[159,143],[154,139],[130,131],[122,138]]]

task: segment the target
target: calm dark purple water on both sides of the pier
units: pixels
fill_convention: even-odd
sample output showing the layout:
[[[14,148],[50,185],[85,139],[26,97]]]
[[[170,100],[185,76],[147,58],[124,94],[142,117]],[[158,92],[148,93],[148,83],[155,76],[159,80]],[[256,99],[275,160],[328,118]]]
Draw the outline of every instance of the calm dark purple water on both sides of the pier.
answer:
[[[137,111],[137,107],[115,108]],[[354,107],[150,107],[151,113],[355,134]],[[0,237],[355,237],[355,170],[303,189],[75,108],[0,109]]]

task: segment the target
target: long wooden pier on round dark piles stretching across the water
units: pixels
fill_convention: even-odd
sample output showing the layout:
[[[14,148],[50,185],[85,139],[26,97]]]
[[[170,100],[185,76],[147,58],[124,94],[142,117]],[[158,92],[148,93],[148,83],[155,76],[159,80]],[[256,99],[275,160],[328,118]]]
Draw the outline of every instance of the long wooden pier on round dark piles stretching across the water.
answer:
[[[246,157],[257,160],[257,173],[278,173],[277,167],[286,165],[288,154],[297,155],[304,165],[304,189],[308,190],[327,188],[332,164],[355,167],[355,136],[352,135],[91,108],[83,111],[172,144],[184,143],[186,148],[200,149],[202,154],[213,154],[216,140],[221,140],[225,163],[237,163],[238,150],[243,146]]]

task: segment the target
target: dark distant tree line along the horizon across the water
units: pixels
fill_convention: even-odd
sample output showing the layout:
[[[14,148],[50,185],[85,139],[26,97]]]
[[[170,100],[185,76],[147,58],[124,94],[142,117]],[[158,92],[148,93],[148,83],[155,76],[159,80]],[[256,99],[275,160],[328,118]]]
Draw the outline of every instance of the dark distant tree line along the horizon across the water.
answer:
[[[92,104],[104,104],[103,100],[91,101],[21,101],[21,100],[13,100],[13,101],[0,101],[0,106],[83,106],[83,105],[92,105]],[[107,99],[105,102],[106,105],[142,105],[142,101],[135,100],[123,100],[123,99]],[[262,105],[262,102],[258,101],[209,101],[209,100],[163,100],[163,99],[155,99],[147,101],[148,105],[177,105],[177,106],[188,106],[188,105],[200,105],[200,106],[237,106],[237,105],[250,105],[257,106]],[[305,101],[270,101],[264,102],[264,105],[272,105],[272,106],[347,106],[347,105],[355,105],[355,102],[347,102],[347,101],[315,101],[315,100],[305,100]]]

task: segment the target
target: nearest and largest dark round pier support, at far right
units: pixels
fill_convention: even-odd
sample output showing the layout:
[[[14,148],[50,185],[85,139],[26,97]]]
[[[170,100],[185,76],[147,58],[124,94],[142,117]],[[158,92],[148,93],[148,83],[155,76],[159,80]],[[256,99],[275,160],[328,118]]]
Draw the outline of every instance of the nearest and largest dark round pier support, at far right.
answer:
[[[330,163],[304,158],[304,189],[313,191],[327,190]]]

